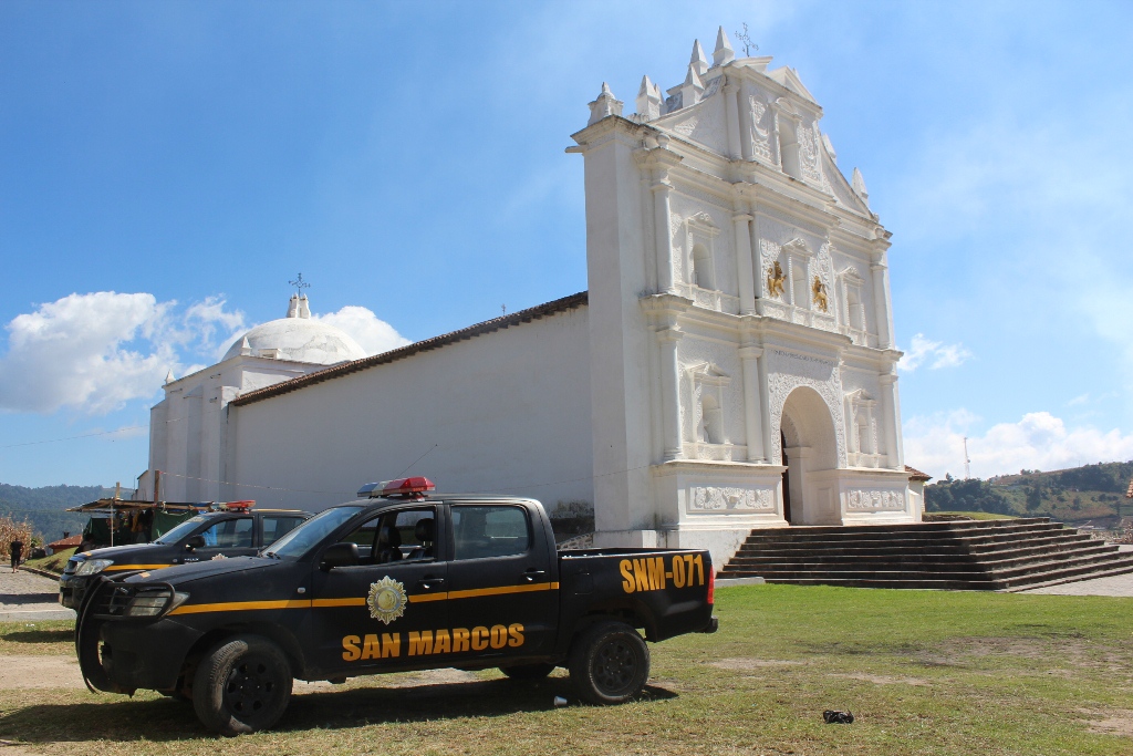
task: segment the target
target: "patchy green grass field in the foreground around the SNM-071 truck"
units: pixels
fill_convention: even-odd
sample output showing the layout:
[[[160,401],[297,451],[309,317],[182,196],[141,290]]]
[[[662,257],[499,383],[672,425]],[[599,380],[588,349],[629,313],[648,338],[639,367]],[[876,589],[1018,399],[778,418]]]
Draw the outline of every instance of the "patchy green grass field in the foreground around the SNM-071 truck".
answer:
[[[719,632],[651,646],[646,695],[625,706],[578,705],[561,670],[537,685],[385,676],[297,695],[278,730],[218,740],[191,707],[152,694],[7,689],[0,739],[60,756],[1133,753],[1133,598],[777,585],[716,596]],[[10,638],[0,631],[0,652],[57,642]],[[824,724],[826,708],[858,721]]]

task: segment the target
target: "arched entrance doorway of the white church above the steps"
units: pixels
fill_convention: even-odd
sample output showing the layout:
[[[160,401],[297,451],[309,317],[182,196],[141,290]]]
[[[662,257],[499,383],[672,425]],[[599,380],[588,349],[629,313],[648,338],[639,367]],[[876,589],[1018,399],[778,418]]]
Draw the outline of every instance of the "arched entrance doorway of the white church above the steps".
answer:
[[[834,418],[821,396],[799,387],[783,405],[783,517],[791,525],[837,525],[837,468]]]

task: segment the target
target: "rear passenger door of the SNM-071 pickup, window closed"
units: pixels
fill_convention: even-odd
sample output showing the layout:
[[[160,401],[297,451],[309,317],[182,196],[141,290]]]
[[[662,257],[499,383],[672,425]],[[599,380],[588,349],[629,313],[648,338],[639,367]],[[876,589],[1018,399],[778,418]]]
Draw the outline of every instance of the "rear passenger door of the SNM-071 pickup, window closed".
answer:
[[[449,621],[468,632],[470,657],[550,653],[559,622],[559,586],[539,523],[521,504],[450,507]]]

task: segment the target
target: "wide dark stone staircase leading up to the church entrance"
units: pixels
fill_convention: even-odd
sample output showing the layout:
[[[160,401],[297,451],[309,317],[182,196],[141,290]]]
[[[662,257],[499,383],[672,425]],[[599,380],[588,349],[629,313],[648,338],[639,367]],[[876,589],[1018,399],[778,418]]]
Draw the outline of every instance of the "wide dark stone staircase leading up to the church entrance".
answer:
[[[752,530],[718,574],[862,588],[1020,591],[1133,572],[1133,553],[1050,518]]]

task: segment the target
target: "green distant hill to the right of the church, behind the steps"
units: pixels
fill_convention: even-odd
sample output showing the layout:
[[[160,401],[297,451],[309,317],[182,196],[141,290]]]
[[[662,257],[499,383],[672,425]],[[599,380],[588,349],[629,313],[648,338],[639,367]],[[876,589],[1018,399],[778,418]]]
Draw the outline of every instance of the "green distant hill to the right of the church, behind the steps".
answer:
[[[1125,499],[1131,477],[1133,461],[1022,470],[987,481],[945,478],[925,486],[925,507],[930,512],[997,512],[1102,525],[1116,520],[1118,507],[1123,517],[1133,516],[1133,500]]]

